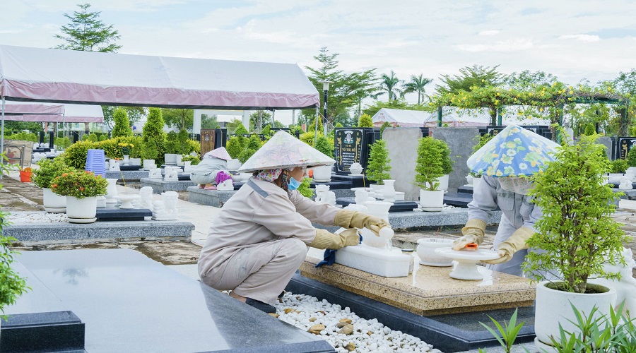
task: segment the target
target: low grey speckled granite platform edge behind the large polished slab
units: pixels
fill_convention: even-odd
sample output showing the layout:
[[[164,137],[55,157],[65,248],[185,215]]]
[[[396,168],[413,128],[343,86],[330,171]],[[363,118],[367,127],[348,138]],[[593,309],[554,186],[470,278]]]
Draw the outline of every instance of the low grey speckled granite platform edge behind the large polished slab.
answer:
[[[177,240],[190,241],[194,225],[177,221],[95,222],[88,224],[16,223],[6,226],[3,234],[23,244],[81,243],[83,241]]]

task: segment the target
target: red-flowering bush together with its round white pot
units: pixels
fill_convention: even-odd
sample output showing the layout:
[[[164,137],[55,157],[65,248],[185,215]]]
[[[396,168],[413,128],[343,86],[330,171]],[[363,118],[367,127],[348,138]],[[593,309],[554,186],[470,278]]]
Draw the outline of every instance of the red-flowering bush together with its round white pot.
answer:
[[[72,223],[95,222],[97,196],[106,195],[108,181],[93,172],[62,173],[51,181],[51,189],[66,196],[66,216]]]

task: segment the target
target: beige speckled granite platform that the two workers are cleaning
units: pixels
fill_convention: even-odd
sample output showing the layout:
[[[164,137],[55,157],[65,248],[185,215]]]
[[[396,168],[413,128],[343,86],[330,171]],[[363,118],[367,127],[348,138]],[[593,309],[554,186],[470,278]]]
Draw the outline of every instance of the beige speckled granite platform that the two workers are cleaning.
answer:
[[[531,306],[536,289],[523,277],[480,268],[484,280],[454,280],[452,267],[416,263],[408,277],[386,278],[334,264],[315,268],[307,256],[300,275],[422,316]]]

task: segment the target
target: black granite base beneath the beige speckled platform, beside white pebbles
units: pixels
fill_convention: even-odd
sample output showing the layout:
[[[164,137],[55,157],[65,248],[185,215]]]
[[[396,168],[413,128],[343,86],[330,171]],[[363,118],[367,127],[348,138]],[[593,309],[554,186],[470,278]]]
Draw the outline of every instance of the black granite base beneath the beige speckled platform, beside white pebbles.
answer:
[[[493,328],[495,325],[488,316],[502,323],[510,320],[514,309],[499,309],[476,313],[457,313],[442,316],[419,316],[398,309],[394,306],[369,299],[343,289],[326,285],[317,280],[295,273],[285,290],[326,299],[343,307],[348,306],[358,316],[377,320],[391,330],[400,330],[409,335],[420,337],[442,352],[461,352],[470,349],[495,347],[499,342],[486,330],[480,322]],[[524,326],[516,343],[534,340],[534,307],[519,308],[517,322],[524,321]]]

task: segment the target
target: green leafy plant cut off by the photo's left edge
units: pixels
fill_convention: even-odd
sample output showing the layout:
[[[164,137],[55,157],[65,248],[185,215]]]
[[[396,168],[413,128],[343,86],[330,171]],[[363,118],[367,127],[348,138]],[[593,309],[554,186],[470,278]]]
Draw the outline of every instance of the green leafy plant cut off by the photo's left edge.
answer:
[[[6,161],[4,153],[0,155],[0,158]],[[11,167],[5,163],[0,164],[0,173],[4,174],[11,170]],[[0,185],[0,189],[1,189]],[[4,314],[4,308],[11,304],[16,304],[18,298],[25,294],[30,288],[26,285],[24,277],[20,277],[18,273],[11,268],[11,264],[15,261],[14,256],[18,255],[18,252],[13,251],[11,241],[15,241],[15,238],[5,237],[2,234],[2,228],[8,225],[6,221],[7,214],[0,211],[0,313]],[[6,315],[0,315],[1,318],[6,319]]]

